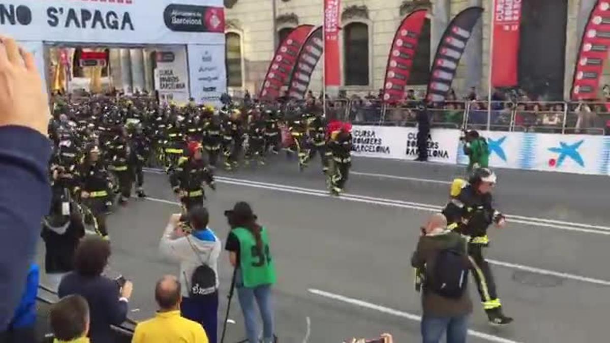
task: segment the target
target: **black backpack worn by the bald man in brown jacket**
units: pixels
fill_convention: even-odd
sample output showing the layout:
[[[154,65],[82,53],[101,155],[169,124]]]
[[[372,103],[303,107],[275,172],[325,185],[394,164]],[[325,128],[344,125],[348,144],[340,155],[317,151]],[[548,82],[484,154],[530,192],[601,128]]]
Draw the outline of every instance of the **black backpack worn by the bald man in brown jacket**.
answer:
[[[459,298],[468,284],[465,253],[454,248],[441,250],[434,268],[426,276],[426,288],[447,298]]]

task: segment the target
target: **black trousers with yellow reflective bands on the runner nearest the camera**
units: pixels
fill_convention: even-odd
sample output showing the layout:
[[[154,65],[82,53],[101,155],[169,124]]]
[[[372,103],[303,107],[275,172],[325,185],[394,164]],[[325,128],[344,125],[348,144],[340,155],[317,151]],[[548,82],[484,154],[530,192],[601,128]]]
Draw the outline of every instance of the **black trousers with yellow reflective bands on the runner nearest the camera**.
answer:
[[[498,299],[492,270],[483,256],[484,248],[486,247],[483,244],[468,244],[468,256],[473,265],[470,271],[475,278],[476,289],[481,295],[481,303],[484,309],[489,310],[501,307],[501,303]]]

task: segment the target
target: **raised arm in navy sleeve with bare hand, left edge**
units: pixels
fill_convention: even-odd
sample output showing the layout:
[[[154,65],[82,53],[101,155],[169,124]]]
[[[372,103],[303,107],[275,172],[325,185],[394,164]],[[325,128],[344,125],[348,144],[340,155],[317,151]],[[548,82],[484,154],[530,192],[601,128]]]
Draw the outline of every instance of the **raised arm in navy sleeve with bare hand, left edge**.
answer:
[[[21,298],[49,211],[49,118],[34,57],[0,36],[0,332]]]

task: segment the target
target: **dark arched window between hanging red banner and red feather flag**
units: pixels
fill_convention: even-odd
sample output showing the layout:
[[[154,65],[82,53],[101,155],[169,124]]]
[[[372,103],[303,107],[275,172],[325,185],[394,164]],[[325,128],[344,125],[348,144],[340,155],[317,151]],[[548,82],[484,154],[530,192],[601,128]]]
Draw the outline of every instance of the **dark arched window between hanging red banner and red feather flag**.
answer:
[[[368,25],[351,23],[343,31],[345,85],[368,85]]]

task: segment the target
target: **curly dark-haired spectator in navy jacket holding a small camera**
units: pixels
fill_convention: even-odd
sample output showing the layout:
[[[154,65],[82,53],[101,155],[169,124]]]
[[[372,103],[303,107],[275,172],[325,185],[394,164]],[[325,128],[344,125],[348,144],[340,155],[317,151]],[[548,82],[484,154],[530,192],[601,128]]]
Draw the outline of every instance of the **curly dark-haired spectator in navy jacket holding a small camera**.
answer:
[[[82,240],[74,255],[74,271],[66,274],[57,294],[82,295],[91,310],[89,336],[92,343],[112,342],[110,325],[127,319],[129,298],[134,289],[124,278],[113,280],[102,275],[110,258],[110,243],[98,236]]]

